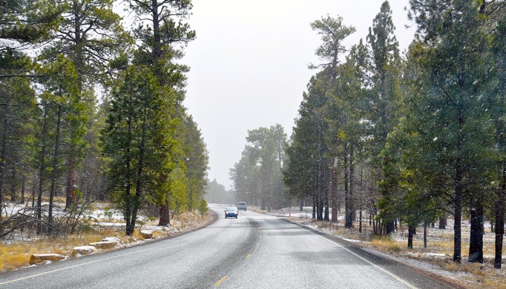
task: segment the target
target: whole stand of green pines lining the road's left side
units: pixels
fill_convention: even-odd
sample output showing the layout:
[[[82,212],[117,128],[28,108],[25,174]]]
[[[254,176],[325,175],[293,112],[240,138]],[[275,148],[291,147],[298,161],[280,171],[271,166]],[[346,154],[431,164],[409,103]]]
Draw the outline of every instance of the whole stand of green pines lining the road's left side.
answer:
[[[162,226],[202,207],[207,150],[178,61],[191,1],[122,3],[128,27],[114,0],[0,0],[0,220],[24,203],[50,233],[56,197],[66,217],[107,199],[130,235],[149,204]]]

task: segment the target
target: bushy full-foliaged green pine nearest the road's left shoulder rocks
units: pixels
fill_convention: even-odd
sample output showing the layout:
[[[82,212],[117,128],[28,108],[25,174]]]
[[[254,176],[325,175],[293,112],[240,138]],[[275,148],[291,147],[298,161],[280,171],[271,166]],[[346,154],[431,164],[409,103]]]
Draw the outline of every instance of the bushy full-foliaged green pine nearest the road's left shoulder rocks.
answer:
[[[171,152],[177,145],[166,118],[173,109],[170,93],[150,69],[136,66],[123,72],[112,93],[104,153],[111,159],[111,198],[123,211],[129,235],[143,203],[166,201],[170,183],[160,176],[169,176],[175,168]]]

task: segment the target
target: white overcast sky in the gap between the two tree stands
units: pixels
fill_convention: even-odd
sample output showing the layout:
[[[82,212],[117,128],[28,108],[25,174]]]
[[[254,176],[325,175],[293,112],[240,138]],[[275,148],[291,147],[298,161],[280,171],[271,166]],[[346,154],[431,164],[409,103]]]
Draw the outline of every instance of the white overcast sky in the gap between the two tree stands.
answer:
[[[193,0],[190,25],[197,38],[182,62],[191,69],[185,105],[209,151],[208,177],[232,186],[229,169],[241,157],[247,130],[280,123],[291,134],[309,63],[320,45],[309,23],[340,15],[356,27],[348,46],[367,35],[383,0]],[[414,35],[404,7],[391,0],[396,36],[404,51]]]

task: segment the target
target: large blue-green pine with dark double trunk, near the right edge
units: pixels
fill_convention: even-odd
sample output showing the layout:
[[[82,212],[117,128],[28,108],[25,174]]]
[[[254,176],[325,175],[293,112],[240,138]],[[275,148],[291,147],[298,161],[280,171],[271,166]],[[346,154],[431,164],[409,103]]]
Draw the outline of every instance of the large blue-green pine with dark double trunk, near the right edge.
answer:
[[[425,1],[411,3],[411,17],[428,44],[424,56],[427,97],[418,106],[424,107],[418,132],[424,143],[433,143],[425,149],[427,159],[433,160],[428,167],[434,171],[428,174],[448,176],[446,182],[452,187],[455,262],[461,260],[464,202],[472,214],[469,259],[483,261],[484,195],[477,184],[488,183],[484,172],[489,160],[484,149],[491,130],[482,96],[489,78],[489,59],[479,9],[478,2],[469,1],[439,6]]]

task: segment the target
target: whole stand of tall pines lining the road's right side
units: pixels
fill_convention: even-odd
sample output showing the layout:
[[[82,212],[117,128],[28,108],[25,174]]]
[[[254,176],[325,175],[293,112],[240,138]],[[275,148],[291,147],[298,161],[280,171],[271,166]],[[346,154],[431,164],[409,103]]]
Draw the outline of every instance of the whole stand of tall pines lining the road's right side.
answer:
[[[377,235],[453,216],[461,260],[462,215],[471,220],[469,261],[483,262],[483,222],[495,230],[501,267],[506,162],[506,3],[411,0],[415,39],[401,56],[388,2],[365,40],[341,17],[311,24],[321,64],[300,105],[283,168],[290,194],[313,218],[345,224],[368,212]],[[331,219],[329,219],[329,212]],[[361,216],[361,214],[360,214]]]

